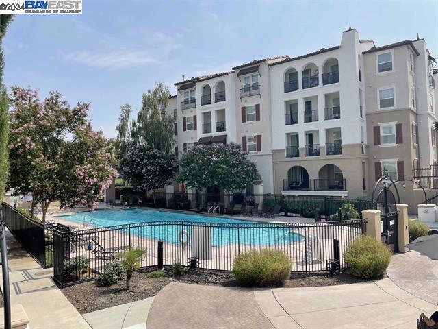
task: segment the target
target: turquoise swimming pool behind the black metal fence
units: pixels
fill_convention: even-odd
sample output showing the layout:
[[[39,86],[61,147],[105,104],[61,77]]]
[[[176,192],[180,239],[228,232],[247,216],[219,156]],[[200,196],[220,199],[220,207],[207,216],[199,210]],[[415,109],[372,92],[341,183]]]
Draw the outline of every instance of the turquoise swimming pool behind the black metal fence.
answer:
[[[107,227],[132,223],[151,223],[141,228],[136,226],[136,234],[169,243],[179,243],[181,230],[187,232],[189,240],[192,228],[211,223],[211,243],[221,246],[231,243],[248,245],[279,245],[302,241],[302,236],[292,232],[292,228],[281,224],[242,221],[225,217],[191,215],[181,212],[168,212],[144,209],[97,210],[78,212],[74,215],[59,216],[68,221],[85,221],[93,226]],[[162,222],[162,223],[160,223]],[[156,224],[155,224],[156,223]],[[235,225],[238,224],[238,225]],[[89,227],[88,227],[89,228]]]

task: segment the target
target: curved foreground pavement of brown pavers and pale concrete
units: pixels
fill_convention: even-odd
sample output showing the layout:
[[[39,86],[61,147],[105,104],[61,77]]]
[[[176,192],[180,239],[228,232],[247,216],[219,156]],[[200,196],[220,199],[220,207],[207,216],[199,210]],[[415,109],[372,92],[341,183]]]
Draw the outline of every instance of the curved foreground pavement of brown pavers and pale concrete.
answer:
[[[148,329],[416,328],[437,306],[389,278],[329,287],[237,289],[172,282],[158,293]]]

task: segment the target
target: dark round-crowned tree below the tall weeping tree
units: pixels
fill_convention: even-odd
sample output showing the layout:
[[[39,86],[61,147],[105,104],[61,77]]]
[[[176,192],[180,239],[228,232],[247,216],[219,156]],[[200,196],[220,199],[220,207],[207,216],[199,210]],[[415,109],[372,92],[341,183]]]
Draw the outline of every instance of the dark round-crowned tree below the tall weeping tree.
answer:
[[[120,160],[121,175],[137,191],[163,188],[178,169],[175,154],[165,153],[150,145],[131,146]]]

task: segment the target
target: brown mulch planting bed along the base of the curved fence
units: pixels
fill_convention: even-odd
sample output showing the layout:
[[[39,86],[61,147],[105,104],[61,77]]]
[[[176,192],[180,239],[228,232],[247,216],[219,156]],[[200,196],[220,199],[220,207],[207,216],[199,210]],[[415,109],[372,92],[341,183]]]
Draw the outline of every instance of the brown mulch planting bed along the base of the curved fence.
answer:
[[[133,273],[131,289],[129,291],[126,289],[125,280],[113,284],[111,287],[99,287],[94,281],[84,282],[66,287],[61,289],[61,291],[77,308],[79,313],[84,314],[155,296],[172,281],[241,287],[235,281],[231,272],[198,269],[196,271],[188,270],[183,276],[174,277],[172,276],[172,268],[164,267],[166,278],[147,278],[147,273],[153,270],[151,268],[142,269]],[[294,273],[289,280],[285,280],[285,284],[282,287],[319,287],[357,282],[365,282],[365,280],[350,276],[346,272],[340,272],[335,275],[330,273]]]

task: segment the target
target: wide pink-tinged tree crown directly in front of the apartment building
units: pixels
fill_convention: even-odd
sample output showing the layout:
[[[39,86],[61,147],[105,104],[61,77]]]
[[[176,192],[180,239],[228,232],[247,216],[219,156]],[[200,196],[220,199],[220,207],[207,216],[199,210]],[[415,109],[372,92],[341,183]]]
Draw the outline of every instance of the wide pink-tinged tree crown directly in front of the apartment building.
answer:
[[[235,143],[196,145],[181,158],[180,167],[178,180],[192,188],[242,191],[260,179],[256,165]]]

